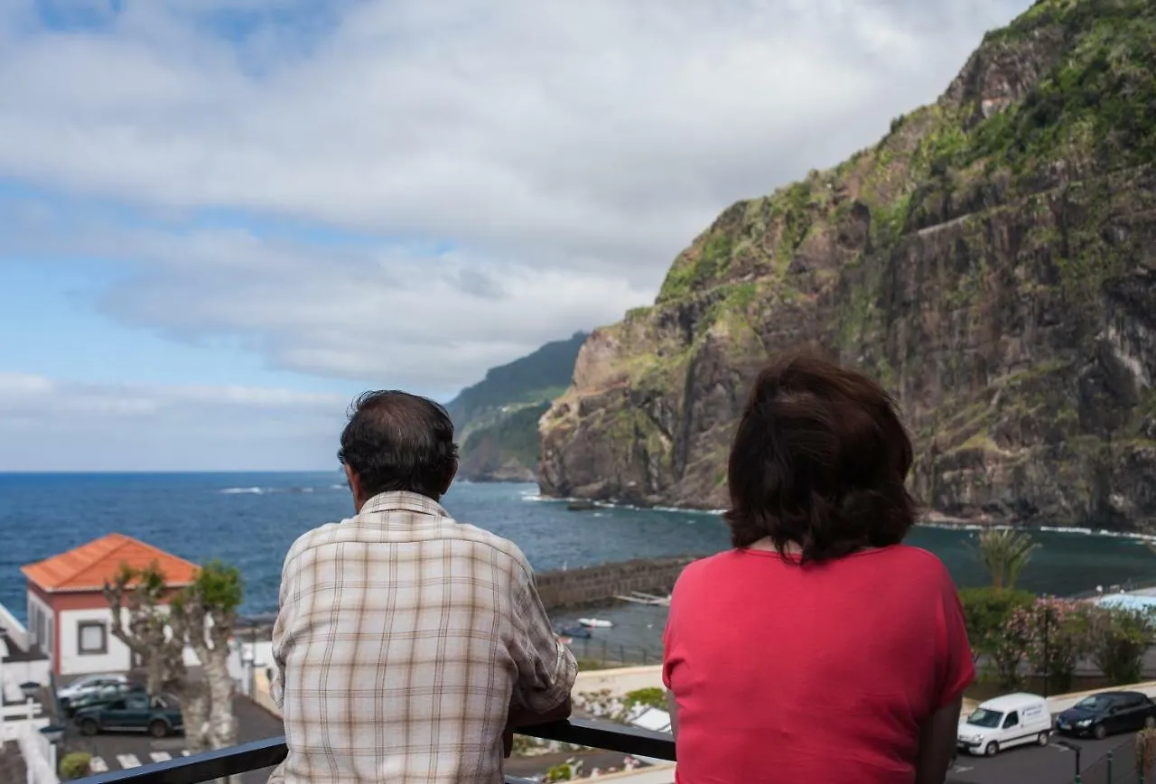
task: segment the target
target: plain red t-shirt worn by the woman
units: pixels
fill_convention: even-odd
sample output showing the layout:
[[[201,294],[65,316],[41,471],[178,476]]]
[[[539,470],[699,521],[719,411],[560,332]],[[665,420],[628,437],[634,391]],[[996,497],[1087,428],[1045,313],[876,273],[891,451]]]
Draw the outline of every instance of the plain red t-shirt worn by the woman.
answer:
[[[679,784],[910,784],[920,725],[976,674],[951,577],[903,545],[696,561],[664,643]]]

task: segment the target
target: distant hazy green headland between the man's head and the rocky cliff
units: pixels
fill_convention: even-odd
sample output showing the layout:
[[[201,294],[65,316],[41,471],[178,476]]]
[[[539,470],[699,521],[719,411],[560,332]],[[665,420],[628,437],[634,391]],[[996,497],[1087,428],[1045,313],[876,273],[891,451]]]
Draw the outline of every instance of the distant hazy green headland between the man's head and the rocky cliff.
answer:
[[[533,481],[538,420],[570,384],[575,358],[586,338],[578,332],[491,368],[484,379],[446,404],[457,429],[464,479]]]

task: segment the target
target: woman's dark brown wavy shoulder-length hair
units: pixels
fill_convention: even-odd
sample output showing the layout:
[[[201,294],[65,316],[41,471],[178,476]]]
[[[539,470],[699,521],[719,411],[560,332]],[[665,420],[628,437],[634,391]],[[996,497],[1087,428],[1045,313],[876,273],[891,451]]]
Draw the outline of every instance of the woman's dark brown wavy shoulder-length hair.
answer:
[[[770,537],[784,555],[794,542],[802,563],[896,545],[916,522],[912,458],[877,383],[808,354],[779,360],[755,380],[731,448],[731,541]]]

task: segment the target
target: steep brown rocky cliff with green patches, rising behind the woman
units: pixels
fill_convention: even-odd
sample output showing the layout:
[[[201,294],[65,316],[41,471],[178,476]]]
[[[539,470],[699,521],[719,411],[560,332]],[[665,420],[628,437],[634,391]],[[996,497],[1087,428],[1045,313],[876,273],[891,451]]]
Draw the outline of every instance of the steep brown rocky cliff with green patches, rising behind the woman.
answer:
[[[1149,0],[1042,0],[873,149],[726,209],[583,346],[542,491],[725,505],[748,385],[809,346],[896,395],[931,508],[1156,527],[1154,51]]]

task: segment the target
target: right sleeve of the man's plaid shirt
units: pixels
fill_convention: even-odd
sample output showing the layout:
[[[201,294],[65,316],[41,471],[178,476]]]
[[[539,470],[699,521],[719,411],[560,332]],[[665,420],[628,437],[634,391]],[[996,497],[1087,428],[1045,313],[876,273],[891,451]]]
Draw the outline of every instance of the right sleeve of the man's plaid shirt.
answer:
[[[514,700],[536,713],[561,705],[573,688],[578,663],[554,634],[538,596],[529,564],[518,570],[519,598],[514,615],[512,656],[518,667]]]

